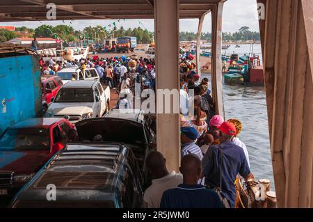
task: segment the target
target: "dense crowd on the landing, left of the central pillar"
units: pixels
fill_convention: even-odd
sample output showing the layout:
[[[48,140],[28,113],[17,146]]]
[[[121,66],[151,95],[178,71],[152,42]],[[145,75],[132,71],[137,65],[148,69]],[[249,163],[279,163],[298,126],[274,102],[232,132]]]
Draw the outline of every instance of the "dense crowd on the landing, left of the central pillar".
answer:
[[[125,90],[126,93],[131,90],[134,93],[135,83],[148,84],[147,87],[155,90],[154,58],[138,58],[137,56],[99,58],[99,56],[93,56],[93,58],[63,62],[56,61],[53,57],[48,61],[40,58],[41,73],[45,75],[54,75],[63,68],[74,66],[80,68],[83,73],[86,68],[95,68],[102,84],[113,89],[116,88],[117,93],[120,93],[121,90]],[[143,77],[145,77],[145,82],[142,81]],[[73,77],[72,80],[75,78]]]

